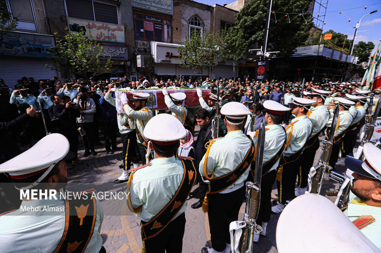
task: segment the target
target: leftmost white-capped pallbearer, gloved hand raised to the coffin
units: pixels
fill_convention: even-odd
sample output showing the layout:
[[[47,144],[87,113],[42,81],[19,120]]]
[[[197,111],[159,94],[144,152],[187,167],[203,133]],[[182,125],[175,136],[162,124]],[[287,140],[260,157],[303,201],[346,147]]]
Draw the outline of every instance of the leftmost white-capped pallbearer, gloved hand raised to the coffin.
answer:
[[[126,93],[120,95],[120,101],[123,104],[123,110],[128,116],[128,125],[131,129],[136,130],[136,136],[138,138],[138,147],[142,158],[142,163],[146,164],[146,153],[149,139],[144,136],[143,130],[146,127],[148,120],[152,119],[152,111],[147,108],[148,93],[143,92],[131,92],[134,109],[128,104],[128,98]],[[128,179],[128,175],[123,171],[125,175],[123,180]]]

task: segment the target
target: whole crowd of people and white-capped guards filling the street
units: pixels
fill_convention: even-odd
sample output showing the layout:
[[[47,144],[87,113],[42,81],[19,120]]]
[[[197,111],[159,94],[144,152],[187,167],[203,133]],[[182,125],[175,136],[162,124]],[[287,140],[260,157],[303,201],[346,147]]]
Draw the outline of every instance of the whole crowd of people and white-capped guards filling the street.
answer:
[[[127,76],[124,80],[100,79],[97,82],[83,78],[61,82],[57,77],[34,82],[31,77],[22,77],[12,90],[0,79],[0,103],[4,108],[0,121],[14,122],[17,118],[14,127],[1,129],[8,145],[2,148],[0,163],[21,153],[20,145],[32,145],[33,140],[46,135],[42,117],[48,132],[62,134],[69,142],[68,150],[73,155],[66,159],[67,168],[71,168],[72,163],[82,163],[78,157],[79,136],[85,149],[83,157],[87,157],[96,155],[95,145],[104,145],[109,154],[119,150],[117,136],[120,135],[123,160],[119,168],[122,173],[114,183],[128,182],[127,205],[142,221],[142,238],[147,251],[181,252],[186,201],[198,198],[191,208],[202,207],[208,212],[213,247],[202,248],[202,253],[230,252],[229,224],[238,219],[245,197],[244,183],[253,181],[261,122],[266,125],[266,135],[261,204],[256,223],[262,226],[262,235],[266,236],[271,213],[281,212],[287,201],[306,192],[320,136],[335,131],[329,161],[333,170],[335,165],[344,165],[347,155],[353,155],[370,93],[361,90],[360,84],[250,82],[240,78],[186,81],[182,76],[153,82],[145,77],[131,82]],[[199,108],[183,106],[187,99],[185,93],[168,93],[167,89],[161,89],[168,110],[153,111],[147,107],[149,94],[134,92],[173,86],[197,89]],[[120,96],[123,113],[116,109],[115,91],[119,88],[130,88],[132,93],[132,98],[127,98],[125,93]],[[211,90],[207,101],[201,89]],[[373,92],[375,104],[381,90]],[[218,103],[221,115],[216,117]],[[330,129],[336,106],[340,111],[339,123],[336,129]],[[373,104],[369,105],[368,111],[373,108]],[[217,119],[219,134],[215,136]],[[200,126],[197,130],[196,125]],[[171,131],[167,132],[168,129]],[[100,131],[104,143],[99,138]],[[247,166],[243,168],[242,164]],[[0,169],[0,172],[7,171]],[[379,170],[376,172],[379,174]],[[189,179],[189,183],[183,184],[184,178]],[[220,178],[220,181],[213,181]],[[355,181],[370,180],[356,172],[354,178]],[[371,180],[381,192],[378,177]],[[272,203],[275,181],[279,201]],[[189,186],[181,187],[193,183],[198,183],[199,187],[191,194]],[[360,183],[353,185],[353,193],[360,203],[374,198],[370,192],[357,194],[367,190],[363,187]],[[229,206],[226,206],[227,201]],[[169,212],[171,209],[176,212]],[[162,213],[165,215],[160,215]],[[152,232],[161,227],[158,234]],[[258,241],[259,234],[255,234],[254,242]],[[373,243],[381,247],[379,240]]]

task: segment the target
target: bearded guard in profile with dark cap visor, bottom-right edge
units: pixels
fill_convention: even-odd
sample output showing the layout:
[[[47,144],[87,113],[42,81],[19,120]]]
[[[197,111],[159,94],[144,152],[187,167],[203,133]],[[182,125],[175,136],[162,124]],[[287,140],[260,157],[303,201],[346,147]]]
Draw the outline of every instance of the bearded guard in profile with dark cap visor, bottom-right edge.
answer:
[[[381,150],[371,143],[365,143],[363,153],[365,161],[353,157],[345,160],[345,165],[354,172],[351,185],[354,195],[349,195],[350,202],[343,209],[349,220],[381,248]]]

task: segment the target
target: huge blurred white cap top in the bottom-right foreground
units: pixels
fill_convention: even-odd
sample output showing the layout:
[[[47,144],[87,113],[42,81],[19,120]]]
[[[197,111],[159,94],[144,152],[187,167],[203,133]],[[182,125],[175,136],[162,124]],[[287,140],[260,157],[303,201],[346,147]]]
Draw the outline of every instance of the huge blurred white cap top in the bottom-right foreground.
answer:
[[[276,231],[280,253],[379,252],[333,202],[319,194],[293,199],[280,214]],[[291,231],[303,232],[295,236]],[[323,243],[311,246],[312,235]]]

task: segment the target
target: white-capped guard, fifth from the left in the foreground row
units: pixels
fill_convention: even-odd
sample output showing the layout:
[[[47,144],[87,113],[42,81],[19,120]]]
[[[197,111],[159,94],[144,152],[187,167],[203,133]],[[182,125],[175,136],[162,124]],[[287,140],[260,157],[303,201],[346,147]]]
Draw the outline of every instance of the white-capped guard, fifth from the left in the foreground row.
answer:
[[[313,166],[316,151],[320,146],[319,136],[330,119],[330,112],[324,102],[331,92],[315,89],[314,87],[311,87],[311,91],[312,93],[309,93],[308,96],[311,97],[311,100],[314,100],[312,104],[314,108],[307,112],[307,117],[311,120],[313,128],[311,137],[307,140],[301,156],[301,176],[298,177],[298,188],[295,189],[296,196],[304,194],[307,190],[308,173]]]

